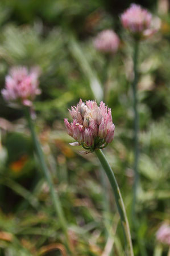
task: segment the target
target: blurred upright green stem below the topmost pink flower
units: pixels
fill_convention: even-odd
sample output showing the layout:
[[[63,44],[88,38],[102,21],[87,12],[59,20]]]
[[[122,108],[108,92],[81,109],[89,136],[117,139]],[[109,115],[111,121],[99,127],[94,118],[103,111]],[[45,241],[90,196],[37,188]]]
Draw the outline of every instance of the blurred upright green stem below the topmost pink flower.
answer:
[[[136,193],[139,182],[139,172],[138,172],[138,160],[139,160],[139,143],[138,143],[138,132],[139,132],[139,116],[138,116],[138,99],[137,99],[137,84],[138,84],[138,51],[139,42],[135,40],[134,45],[134,81],[132,83],[132,91],[134,97],[134,193],[132,200],[132,219],[135,220],[135,205],[136,205]]]

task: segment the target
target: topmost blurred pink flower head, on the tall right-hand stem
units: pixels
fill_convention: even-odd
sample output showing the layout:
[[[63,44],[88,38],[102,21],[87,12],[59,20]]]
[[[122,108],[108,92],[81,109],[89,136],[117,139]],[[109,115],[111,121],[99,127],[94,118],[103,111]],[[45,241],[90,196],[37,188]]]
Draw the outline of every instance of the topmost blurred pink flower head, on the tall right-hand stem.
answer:
[[[146,38],[155,32],[151,29],[151,21],[152,14],[135,3],[121,15],[122,26],[138,38]]]

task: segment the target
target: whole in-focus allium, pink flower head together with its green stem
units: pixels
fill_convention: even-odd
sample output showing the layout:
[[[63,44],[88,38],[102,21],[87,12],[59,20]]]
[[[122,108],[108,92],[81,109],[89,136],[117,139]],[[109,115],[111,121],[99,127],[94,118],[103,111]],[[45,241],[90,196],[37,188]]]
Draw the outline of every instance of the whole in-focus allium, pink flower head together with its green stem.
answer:
[[[64,122],[68,135],[72,136],[77,141],[76,144],[72,143],[72,145],[81,145],[86,149],[86,153],[96,153],[96,156],[109,178],[114,192],[115,202],[121,217],[122,229],[125,237],[126,255],[134,256],[130,227],[128,225],[121,192],[113,170],[101,151],[107,144],[111,143],[114,137],[115,126],[111,116],[111,109],[107,108],[107,105],[105,105],[103,101],[101,101],[98,107],[96,101],[89,100],[84,103],[80,99],[77,107],[73,106],[69,112],[71,113],[73,121],[69,123],[68,119],[64,119]]]

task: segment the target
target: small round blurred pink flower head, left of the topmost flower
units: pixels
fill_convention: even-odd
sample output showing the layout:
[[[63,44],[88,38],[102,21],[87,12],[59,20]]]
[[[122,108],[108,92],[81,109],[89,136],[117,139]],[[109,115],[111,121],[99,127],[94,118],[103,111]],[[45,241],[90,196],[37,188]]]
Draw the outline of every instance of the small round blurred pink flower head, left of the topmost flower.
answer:
[[[113,30],[99,32],[94,40],[94,47],[98,51],[115,53],[118,50],[120,40]]]

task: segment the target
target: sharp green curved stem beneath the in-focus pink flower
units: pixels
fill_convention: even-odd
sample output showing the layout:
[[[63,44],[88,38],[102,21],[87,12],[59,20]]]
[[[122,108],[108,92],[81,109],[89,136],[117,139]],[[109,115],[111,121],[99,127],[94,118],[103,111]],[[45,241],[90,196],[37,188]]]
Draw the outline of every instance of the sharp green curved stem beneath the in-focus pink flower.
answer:
[[[126,242],[126,245],[128,246],[128,254],[130,256],[134,256],[132,242],[131,242],[130,227],[128,225],[125,205],[123,203],[121,191],[119,189],[117,180],[115,179],[113,170],[111,169],[109,162],[107,161],[107,159],[106,159],[105,155],[103,154],[103,152],[101,151],[101,149],[98,149],[94,152],[96,153],[96,156],[98,157],[99,161],[101,162],[101,165],[102,165],[103,169],[105,170],[107,177],[109,178],[111,187],[113,189],[115,202],[117,204],[118,212],[121,217],[122,229],[123,229],[123,233],[125,235],[125,242]]]

